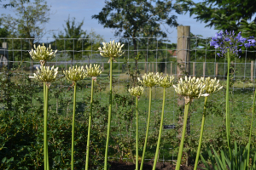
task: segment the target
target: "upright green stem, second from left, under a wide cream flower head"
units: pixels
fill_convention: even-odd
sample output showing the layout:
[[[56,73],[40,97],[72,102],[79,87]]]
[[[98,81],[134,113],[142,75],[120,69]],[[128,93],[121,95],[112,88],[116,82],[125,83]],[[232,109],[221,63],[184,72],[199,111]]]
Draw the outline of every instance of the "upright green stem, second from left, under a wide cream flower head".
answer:
[[[72,121],[72,144],[71,144],[71,169],[73,170],[73,145],[74,145],[74,122],[76,113],[76,94],[77,94],[77,82],[74,82],[73,88],[73,121]]]

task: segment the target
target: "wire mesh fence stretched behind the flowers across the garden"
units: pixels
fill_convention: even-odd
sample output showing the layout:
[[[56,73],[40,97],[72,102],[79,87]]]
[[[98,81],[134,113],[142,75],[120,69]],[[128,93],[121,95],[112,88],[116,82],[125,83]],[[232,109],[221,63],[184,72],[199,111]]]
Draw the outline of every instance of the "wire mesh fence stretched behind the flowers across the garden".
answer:
[[[225,84],[227,76],[227,63],[226,59],[219,58],[218,51],[209,46],[209,38],[189,37],[190,49],[189,49],[189,72],[190,76],[195,77],[217,77]],[[88,65],[88,64],[100,64],[102,65],[102,75],[98,78],[98,83],[102,87],[106,88],[98,94],[98,99],[102,105],[108,105],[108,71],[109,64],[108,59],[102,58],[99,54],[98,47],[101,46],[101,42],[96,39],[45,39],[40,42],[36,42],[33,39],[26,38],[0,38],[0,42],[3,43],[3,48],[0,48],[1,66],[6,65],[10,70],[20,67],[20,71],[15,71],[15,74],[19,75],[20,72],[32,75],[36,72],[36,67],[39,66],[39,62],[32,61],[28,51],[31,50],[32,44],[42,44],[53,50],[57,49],[58,53],[55,59],[47,63],[47,65],[58,66],[60,70],[65,70],[72,65]],[[108,41],[106,41],[108,42]],[[131,65],[131,71],[136,69],[135,56],[139,55],[140,58],[137,61],[137,67],[140,70],[140,75],[147,72],[163,72],[164,74],[177,75],[177,65],[187,64],[177,60],[177,45],[176,42],[172,43],[171,38],[153,38],[153,37],[138,37],[138,38],[116,38],[116,42],[122,42],[125,44],[125,54],[116,59],[113,63],[113,95],[122,94],[128,96],[129,94],[125,90],[125,84],[131,81],[131,77],[127,75],[127,65]],[[188,49],[183,49],[188,50]],[[254,49],[244,49],[241,54],[241,58],[231,59],[231,81],[232,88],[230,99],[230,111],[231,127],[236,130],[241,130],[243,126],[246,126],[249,116],[251,116],[251,109],[253,104],[253,90],[255,89],[255,73],[256,62],[254,60]],[[3,59],[5,57],[5,60]],[[7,60],[6,60],[7,59]],[[87,111],[88,105],[84,104],[84,96],[90,95],[90,81],[84,80],[87,88],[80,88],[78,90],[77,103],[79,108],[77,111]],[[55,82],[52,85],[51,92],[54,92],[58,88],[70,88],[72,82],[61,81]],[[43,92],[42,92],[43,93]],[[38,93],[37,95],[39,95]],[[177,147],[178,147],[178,124],[181,120],[182,111],[177,105],[177,94],[173,88],[166,90],[166,107],[165,107],[165,120],[163,129],[163,144],[160,147],[160,161],[172,161],[176,159]],[[67,100],[66,103],[61,103],[62,100]],[[49,101],[49,110],[57,112],[60,115],[72,114],[72,93],[69,91],[63,94],[63,99],[58,99],[53,96]],[[153,105],[151,122],[149,129],[149,144],[151,149],[148,148],[148,154],[146,154],[146,160],[152,160],[154,154],[154,148],[156,146],[156,140],[158,135],[158,125],[160,120],[160,110],[162,102],[162,89],[153,89]],[[211,138],[218,136],[218,127],[223,126],[224,116],[224,91],[218,94],[213,94],[209,99],[209,110],[211,113],[208,115],[205,127],[205,135],[208,137],[207,142]],[[147,112],[148,112],[148,88],[145,89],[143,97],[139,101],[140,106],[140,138],[144,138],[146,132]],[[35,99],[32,99],[32,105],[38,105]],[[3,105],[2,105],[3,107]],[[118,113],[120,106],[115,105],[115,113]],[[199,132],[201,127],[201,116],[203,109],[203,100],[196,99],[191,105],[190,109],[190,126],[189,136],[191,139],[198,141]],[[125,113],[124,113],[125,114]],[[131,115],[134,115],[133,112]],[[124,116],[123,116],[124,118]],[[120,125],[122,129],[119,130]],[[100,125],[98,125],[100,126]],[[130,126],[130,127],[129,127]],[[255,123],[253,124],[255,127]],[[176,128],[174,128],[176,127]],[[135,139],[135,121],[131,119],[120,120],[120,116],[113,116],[112,128],[117,129],[114,131],[114,136],[119,136],[120,139],[130,137]],[[127,130],[128,129],[128,130]],[[240,131],[242,133],[242,130]],[[170,137],[175,139],[170,139]],[[132,140],[131,140],[132,141]],[[195,142],[196,144],[196,142]],[[114,145],[114,141],[113,144]],[[133,149],[135,144],[133,144]],[[120,156],[110,154],[110,159],[118,159]],[[129,159],[129,158],[127,158]]]

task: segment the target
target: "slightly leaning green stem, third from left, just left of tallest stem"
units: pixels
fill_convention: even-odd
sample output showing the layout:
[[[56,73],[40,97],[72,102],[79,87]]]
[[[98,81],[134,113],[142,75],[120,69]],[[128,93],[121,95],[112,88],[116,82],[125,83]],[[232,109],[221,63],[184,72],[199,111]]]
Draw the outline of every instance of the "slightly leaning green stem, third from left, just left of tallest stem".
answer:
[[[87,146],[86,146],[85,170],[88,170],[88,164],[89,164],[89,151],[90,151],[90,122],[91,122],[91,115],[92,115],[93,86],[94,86],[94,80],[91,78],[90,116],[89,116],[89,123],[88,123],[88,135],[87,135]]]

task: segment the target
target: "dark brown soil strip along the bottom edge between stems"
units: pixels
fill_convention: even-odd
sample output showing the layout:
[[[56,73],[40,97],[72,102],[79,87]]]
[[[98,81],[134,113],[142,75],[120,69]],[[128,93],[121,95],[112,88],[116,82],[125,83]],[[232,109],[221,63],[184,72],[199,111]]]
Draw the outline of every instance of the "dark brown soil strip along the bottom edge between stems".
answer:
[[[110,170],[135,170],[135,165],[131,162],[119,162],[119,161],[109,161],[111,164]],[[143,164],[143,170],[152,170],[154,162],[148,161]],[[140,165],[139,165],[140,166]],[[205,167],[203,164],[197,166],[197,170],[202,170],[200,167]],[[186,167],[181,165],[180,170],[193,170],[194,166]],[[170,162],[157,162],[155,170],[175,170],[175,165]]]

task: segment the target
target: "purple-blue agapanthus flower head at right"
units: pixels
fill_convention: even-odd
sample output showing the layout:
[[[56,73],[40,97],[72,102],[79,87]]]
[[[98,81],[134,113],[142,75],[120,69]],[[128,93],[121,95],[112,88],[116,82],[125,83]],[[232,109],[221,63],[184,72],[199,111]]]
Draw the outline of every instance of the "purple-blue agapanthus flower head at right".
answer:
[[[244,45],[246,48],[249,48],[251,46],[255,46],[256,44],[254,37],[250,37],[249,39],[241,37],[241,32],[235,36],[234,31],[219,31],[215,34],[215,37],[212,37],[210,45],[214,46],[214,48],[220,49],[221,53],[218,53],[218,56],[224,56],[228,49],[230,49],[230,54],[239,56],[240,58],[239,53],[241,52],[241,46]]]

